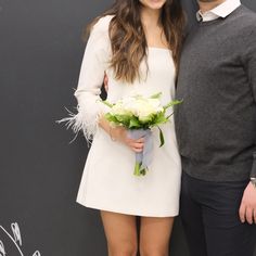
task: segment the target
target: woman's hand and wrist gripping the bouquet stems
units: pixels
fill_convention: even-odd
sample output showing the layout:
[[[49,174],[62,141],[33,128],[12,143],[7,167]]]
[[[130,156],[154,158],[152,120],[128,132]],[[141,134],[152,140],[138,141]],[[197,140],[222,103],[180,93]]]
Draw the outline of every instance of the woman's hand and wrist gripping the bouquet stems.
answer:
[[[127,129],[124,127],[110,127],[110,136],[113,140],[123,142],[137,153],[143,151],[144,138],[140,138],[138,140],[130,139],[128,137]]]

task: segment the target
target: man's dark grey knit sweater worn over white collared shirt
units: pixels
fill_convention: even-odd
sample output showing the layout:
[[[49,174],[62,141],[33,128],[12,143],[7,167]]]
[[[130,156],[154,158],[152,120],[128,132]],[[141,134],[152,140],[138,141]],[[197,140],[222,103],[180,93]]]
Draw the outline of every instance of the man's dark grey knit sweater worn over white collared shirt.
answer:
[[[256,177],[256,14],[199,23],[180,60],[175,110],[182,167],[209,181]]]

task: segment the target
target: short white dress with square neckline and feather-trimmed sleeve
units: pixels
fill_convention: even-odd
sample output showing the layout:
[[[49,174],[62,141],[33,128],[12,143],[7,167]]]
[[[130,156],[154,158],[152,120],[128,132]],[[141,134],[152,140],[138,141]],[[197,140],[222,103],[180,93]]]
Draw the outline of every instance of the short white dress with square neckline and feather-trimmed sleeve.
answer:
[[[98,127],[98,116],[106,111],[99,99],[104,72],[108,77],[107,101],[133,94],[152,95],[162,92],[161,101],[175,97],[175,65],[171,51],[149,48],[148,76],[145,63],[141,81],[126,85],[114,78],[108,68],[111,42],[108,25],[112,16],[102,17],[93,27],[81,65],[78,88],[78,114],[75,121],[86,137],[93,135],[87,156],[77,202],[84,206],[136,216],[168,217],[179,213],[181,164],[174,120],[163,125],[165,144],[159,145],[158,129],[153,129],[153,162],[145,176],[133,176],[135,152]],[[76,125],[77,125],[76,124]]]

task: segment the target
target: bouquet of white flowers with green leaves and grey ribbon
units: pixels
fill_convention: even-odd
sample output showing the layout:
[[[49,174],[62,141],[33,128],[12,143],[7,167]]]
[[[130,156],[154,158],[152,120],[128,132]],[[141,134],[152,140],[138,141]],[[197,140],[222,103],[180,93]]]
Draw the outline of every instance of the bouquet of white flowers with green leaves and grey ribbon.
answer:
[[[105,114],[105,118],[115,126],[123,126],[128,129],[131,139],[144,137],[144,148],[141,153],[136,153],[135,176],[144,176],[152,162],[153,138],[151,128],[157,127],[159,130],[159,146],[165,143],[164,135],[159,125],[169,120],[170,115],[166,114],[167,108],[180,104],[181,101],[175,100],[167,105],[161,105],[162,93],[145,98],[142,95],[128,97],[111,104],[103,101],[111,107]]]

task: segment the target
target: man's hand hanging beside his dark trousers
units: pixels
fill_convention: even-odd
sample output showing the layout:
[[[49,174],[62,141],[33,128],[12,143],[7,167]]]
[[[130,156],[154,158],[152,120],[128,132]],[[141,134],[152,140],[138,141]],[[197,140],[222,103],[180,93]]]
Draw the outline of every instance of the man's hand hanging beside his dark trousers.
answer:
[[[252,182],[244,191],[239,215],[242,222],[256,223],[256,188]]]

